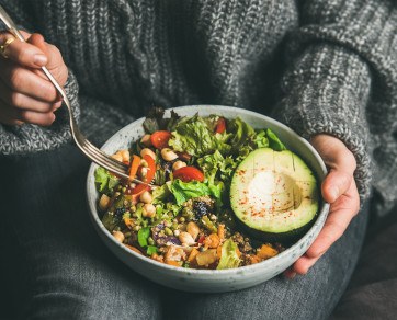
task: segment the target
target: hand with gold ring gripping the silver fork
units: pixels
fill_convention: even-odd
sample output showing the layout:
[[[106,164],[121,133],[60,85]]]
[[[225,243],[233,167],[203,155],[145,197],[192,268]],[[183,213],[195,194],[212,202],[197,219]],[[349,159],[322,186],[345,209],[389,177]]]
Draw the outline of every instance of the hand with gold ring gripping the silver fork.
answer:
[[[0,55],[0,123],[48,126],[61,99],[41,67],[46,66],[60,85],[66,83],[68,69],[59,50],[42,35],[21,33],[27,42],[15,39],[5,47],[7,58]],[[8,32],[0,33],[0,44],[10,37]]]

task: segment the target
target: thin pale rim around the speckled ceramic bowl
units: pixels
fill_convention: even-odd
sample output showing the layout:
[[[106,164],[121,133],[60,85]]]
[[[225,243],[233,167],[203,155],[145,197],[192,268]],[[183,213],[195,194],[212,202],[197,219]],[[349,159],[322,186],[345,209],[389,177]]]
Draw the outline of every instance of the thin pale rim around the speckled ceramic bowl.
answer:
[[[317,162],[320,165],[321,173],[324,174],[324,176],[320,178],[320,179],[322,180],[325,178],[325,175],[327,174],[327,168],[326,168],[326,164],[322,161],[322,158],[317,152],[317,150],[306,139],[300,137],[297,133],[295,133],[288,126],[284,125],[283,123],[279,122],[279,121],[276,121],[274,118],[271,118],[271,117],[269,117],[266,115],[263,115],[263,114],[260,114],[258,112],[250,111],[250,110],[241,108],[241,107],[226,106],[226,105],[214,105],[214,104],[197,104],[197,105],[175,106],[175,107],[167,108],[166,113],[170,112],[171,110],[174,110],[178,113],[178,111],[181,111],[181,110],[189,110],[189,108],[194,110],[194,108],[200,108],[200,107],[214,107],[215,111],[216,110],[237,111],[237,112],[242,111],[243,113],[246,113],[248,115],[265,119],[266,122],[272,123],[273,125],[275,125],[277,127],[282,127],[284,130],[286,130],[294,138],[300,140],[304,145],[306,145],[306,147],[315,156]],[[200,112],[200,111],[197,111],[197,112]],[[214,112],[214,113],[216,113],[216,112]],[[139,123],[143,123],[144,119],[145,119],[145,117],[137,118],[134,122],[132,122],[128,125],[121,128],[120,130],[117,130],[115,134],[112,135],[112,137],[110,137],[102,145],[101,149],[104,149],[107,146],[110,146],[112,144],[112,140],[116,136],[123,134],[124,130],[127,130],[128,127],[131,127],[131,126],[135,127]],[[165,264],[165,263],[158,262],[158,261],[156,261],[154,259],[150,259],[150,258],[148,258],[148,256],[146,256],[144,254],[136,253],[135,251],[128,249],[127,247],[123,245],[122,243],[117,242],[114,239],[114,237],[109,232],[109,230],[103,226],[102,221],[100,220],[97,205],[93,204],[94,202],[90,202],[90,197],[91,197],[90,196],[90,190],[92,187],[91,182],[93,181],[92,176],[93,176],[95,168],[98,168],[98,165],[92,162],[90,164],[90,168],[89,168],[89,171],[88,171],[88,176],[87,176],[87,182],[86,182],[86,193],[87,193],[87,203],[88,203],[88,207],[89,207],[89,214],[91,216],[91,219],[93,219],[93,221],[97,224],[97,227],[99,227],[101,229],[101,231],[109,238],[109,240],[111,240],[111,242],[113,242],[113,244],[115,244],[124,253],[132,254],[133,256],[135,256],[135,259],[139,259],[139,260],[141,260],[144,262],[157,265],[159,267],[163,267],[163,268],[169,270],[169,271],[177,271],[179,273],[189,274],[189,275],[192,275],[192,274],[195,274],[195,275],[217,275],[217,274],[228,275],[228,274],[235,274],[235,273],[250,272],[250,271],[259,270],[259,268],[262,268],[262,267],[266,267],[266,265],[269,265],[269,264],[274,264],[277,261],[283,260],[283,258],[288,255],[288,253],[291,251],[293,251],[295,248],[300,247],[300,245],[303,247],[303,243],[307,240],[307,238],[310,236],[310,233],[313,233],[314,230],[319,227],[318,226],[319,224],[321,225],[320,228],[322,228],[322,225],[324,225],[324,222],[325,222],[325,220],[326,220],[326,218],[328,216],[328,212],[329,212],[329,204],[326,203],[322,199],[321,207],[320,207],[320,210],[317,214],[316,221],[313,224],[310,229],[298,241],[296,241],[293,245],[288,247],[283,252],[279,253],[277,255],[275,255],[275,256],[273,256],[271,259],[264,260],[264,261],[256,263],[256,264],[250,264],[250,265],[245,265],[245,266],[239,266],[239,267],[234,267],[234,268],[225,268],[225,270],[184,268],[184,267],[180,267],[180,266],[173,266],[173,265]],[[322,217],[322,219],[321,219],[321,217]]]

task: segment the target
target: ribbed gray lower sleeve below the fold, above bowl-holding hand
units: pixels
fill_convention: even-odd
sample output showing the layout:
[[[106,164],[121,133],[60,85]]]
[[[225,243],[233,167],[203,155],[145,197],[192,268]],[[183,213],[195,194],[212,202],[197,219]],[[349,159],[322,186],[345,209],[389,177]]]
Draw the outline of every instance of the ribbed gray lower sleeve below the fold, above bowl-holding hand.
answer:
[[[293,60],[282,80],[275,117],[306,139],[329,134],[352,151],[361,201],[371,191],[365,106],[371,87],[367,65],[340,46],[311,44]]]

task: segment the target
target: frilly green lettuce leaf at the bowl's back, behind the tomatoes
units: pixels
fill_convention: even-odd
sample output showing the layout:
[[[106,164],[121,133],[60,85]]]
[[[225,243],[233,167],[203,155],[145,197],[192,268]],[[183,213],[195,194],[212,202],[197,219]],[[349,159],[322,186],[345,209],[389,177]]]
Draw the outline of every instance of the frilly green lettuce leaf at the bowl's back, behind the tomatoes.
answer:
[[[201,157],[213,153],[215,150],[228,152],[231,148],[226,142],[228,138],[227,134],[214,134],[211,132],[206,122],[198,115],[195,115],[183,118],[178,123],[168,144],[175,151]]]

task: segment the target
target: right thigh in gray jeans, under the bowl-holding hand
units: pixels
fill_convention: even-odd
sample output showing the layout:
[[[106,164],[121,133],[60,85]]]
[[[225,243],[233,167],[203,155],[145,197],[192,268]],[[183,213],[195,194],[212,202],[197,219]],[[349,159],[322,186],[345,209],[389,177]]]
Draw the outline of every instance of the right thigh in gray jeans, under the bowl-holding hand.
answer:
[[[305,276],[277,276],[253,288],[222,295],[175,292],[169,295],[166,310],[175,315],[173,319],[327,319],[356,264],[366,219],[367,210],[361,212]]]

